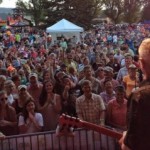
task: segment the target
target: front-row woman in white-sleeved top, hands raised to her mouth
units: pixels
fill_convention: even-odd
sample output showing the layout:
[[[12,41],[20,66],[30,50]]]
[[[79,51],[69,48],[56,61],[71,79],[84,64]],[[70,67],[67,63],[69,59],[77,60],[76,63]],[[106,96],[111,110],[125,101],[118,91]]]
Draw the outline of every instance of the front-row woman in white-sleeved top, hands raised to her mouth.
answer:
[[[42,131],[43,117],[36,110],[35,102],[29,99],[24,105],[23,115],[19,116],[19,133],[35,133]]]

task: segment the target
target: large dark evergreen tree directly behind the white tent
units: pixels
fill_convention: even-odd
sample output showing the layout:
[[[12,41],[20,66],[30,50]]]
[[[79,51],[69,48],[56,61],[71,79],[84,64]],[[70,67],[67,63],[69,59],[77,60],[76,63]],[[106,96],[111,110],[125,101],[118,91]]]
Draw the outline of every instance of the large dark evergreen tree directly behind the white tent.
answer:
[[[92,19],[98,16],[102,0],[53,0],[47,2],[48,24],[62,18],[77,23],[84,28],[90,28]]]

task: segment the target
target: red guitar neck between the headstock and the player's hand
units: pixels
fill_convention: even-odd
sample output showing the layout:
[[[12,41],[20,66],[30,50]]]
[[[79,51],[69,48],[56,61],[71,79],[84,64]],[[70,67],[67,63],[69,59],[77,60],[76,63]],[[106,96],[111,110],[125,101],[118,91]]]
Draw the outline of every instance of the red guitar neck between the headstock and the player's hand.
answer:
[[[89,123],[86,121],[82,121],[82,127],[86,128],[86,129],[91,129],[91,130],[97,131],[101,134],[116,138],[118,140],[122,137],[122,133],[120,133],[120,132],[105,128],[103,126],[98,126],[98,125],[95,125],[93,123]]]

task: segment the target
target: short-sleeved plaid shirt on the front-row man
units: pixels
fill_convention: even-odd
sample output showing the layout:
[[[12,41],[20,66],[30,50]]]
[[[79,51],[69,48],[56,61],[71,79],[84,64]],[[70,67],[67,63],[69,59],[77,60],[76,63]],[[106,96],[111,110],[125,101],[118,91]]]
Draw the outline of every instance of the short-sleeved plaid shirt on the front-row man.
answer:
[[[84,95],[76,100],[76,112],[81,119],[94,124],[100,124],[101,112],[105,110],[101,96],[92,93],[91,99],[86,99]]]

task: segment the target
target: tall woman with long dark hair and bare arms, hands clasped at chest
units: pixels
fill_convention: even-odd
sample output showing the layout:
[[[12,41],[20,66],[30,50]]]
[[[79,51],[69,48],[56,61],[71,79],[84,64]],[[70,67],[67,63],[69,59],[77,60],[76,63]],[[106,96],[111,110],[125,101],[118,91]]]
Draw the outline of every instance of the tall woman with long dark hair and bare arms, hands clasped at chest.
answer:
[[[39,104],[44,119],[44,131],[55,130],[61,112],[61,98],[53,92],[52,81],[44,82]]]

